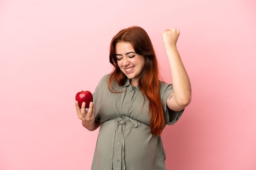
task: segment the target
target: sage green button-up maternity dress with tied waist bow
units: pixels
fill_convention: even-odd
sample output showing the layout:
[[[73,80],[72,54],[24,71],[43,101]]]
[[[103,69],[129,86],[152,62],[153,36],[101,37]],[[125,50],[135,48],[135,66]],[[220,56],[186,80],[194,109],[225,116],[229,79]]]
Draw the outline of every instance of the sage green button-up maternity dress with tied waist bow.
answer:
[[[165,170],[166,159],[161,136],[150,132],[148,100],[132,87],[129,79],[123,86],[112,82],[113,88],[122,93],[112,93],[107,85],[108,75],[103,76],[93,93],[95,119],[102,122],[94,152],[92,170]],[[173,86],[161,82],[165,123],[174,124],[182,111],[168,109],[166,100]],[[144,103],[144,104],[143,104]]]

